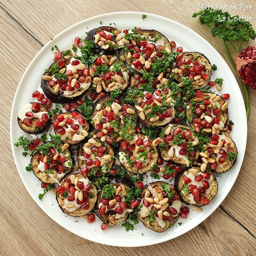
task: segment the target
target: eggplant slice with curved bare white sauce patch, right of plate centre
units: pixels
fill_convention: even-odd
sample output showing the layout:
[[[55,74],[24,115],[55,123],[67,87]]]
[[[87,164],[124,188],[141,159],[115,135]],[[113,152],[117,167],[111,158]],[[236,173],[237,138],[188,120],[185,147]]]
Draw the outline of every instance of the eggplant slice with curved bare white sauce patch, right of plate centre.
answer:
[[[188,142],[195,141],[194,143],[197,142],[198,144],[198,139],[190,131],[190,127],[179,124],[168,124],[164,128],[164,132],[164,138],[158,138],[159,142],[166,143],[158,144],[161,157],[166,161],[171,160],[175,163],[189,166],[189,160],[187,158]],[[174,141],[178,144],[174,144]],[[192,162],[196,159],[195,156],[195,150],[190,151],[188,154]]]

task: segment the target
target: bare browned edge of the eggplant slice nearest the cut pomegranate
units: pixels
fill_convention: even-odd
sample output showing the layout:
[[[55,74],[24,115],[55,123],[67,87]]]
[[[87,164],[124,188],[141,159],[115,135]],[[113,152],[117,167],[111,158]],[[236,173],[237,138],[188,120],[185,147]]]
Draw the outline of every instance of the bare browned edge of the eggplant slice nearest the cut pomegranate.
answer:
[[[197,56],[197,58],[196,58],[196,56]],[[204,84],[201,85],[201,86],[199,86],[199,85],[196,86],[194,84],[192,89],[193,90],[198,90],[200,88],[204,88],[208,84],[208,82],[210,82],[210,75],[211,75],[211,72],[212,72],[212,65],[211,65],[210,61],[208,60],[208,58],[206,58],[206,56],[204,56],[204,54],[202,54],[200,52],[183,52],[183,58],[182,59],[185,59],[185,58],[189,58],[191,60],[191,62],[192,62],[192,60],[196,60],[196,61],[199,62],[199,64],[202,64],[202,65],[205,66],[206,69],[204,70],[204,73],[207,76],[209,76],[209,78],[207,80],[204,80]],[[176,60],[174,63],[177,64],[178,60]],[[175,74],[175,73],[173,73],[173,74],[174,74],[175,80],[180,82],[181,81],[180,75]]]

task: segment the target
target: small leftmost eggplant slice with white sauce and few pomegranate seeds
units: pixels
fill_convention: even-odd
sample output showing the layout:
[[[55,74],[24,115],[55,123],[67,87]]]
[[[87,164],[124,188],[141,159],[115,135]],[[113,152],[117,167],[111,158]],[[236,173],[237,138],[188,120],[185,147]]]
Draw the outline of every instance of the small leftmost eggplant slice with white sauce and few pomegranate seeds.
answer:
[[[24,105],[18,113],[18,124],[24,132],[39,134],[51,125],[48,109],[38,102]]]

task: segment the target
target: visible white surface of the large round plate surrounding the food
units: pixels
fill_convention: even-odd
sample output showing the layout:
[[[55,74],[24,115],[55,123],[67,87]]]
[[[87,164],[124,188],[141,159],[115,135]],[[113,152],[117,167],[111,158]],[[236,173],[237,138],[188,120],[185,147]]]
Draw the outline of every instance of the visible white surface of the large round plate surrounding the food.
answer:
[[[22,79],[20,80],[20,84],[18,85],[12,104],[10,120],[12,152],[20,177],[32,198],[40,208],[50,216],[50,218],[70,232],[88,240],[112,246],[132,247],[157,244],[180,236],[200,224],[210,216],[214,210],[216,210],[232,188],[240,171],[246,149],[247,121],[244,101],[236,79],[224,59],[204,38],[186,26],[174,20],[154,14],[146,14],[147,18],[142,20],[142,14],[144,13],[115,12],[95,16],[78,22],[55,36],[52,41],[48,42],[42,50],[36,54],[35,58],[29,64],[22,76]],[[97,218],[95,222],[88,224],[85,218],[74,218],[64,214],[56,202],[55,194],[52,192],[48,192],[44,196],[43,200],[40,201],[38,199],[38,194],[42,193],[42,188],[40,186],[41,182],[32,172],[27,172],[25,170],[25,167],[30,162],[30,158],[29,156],[26,158],[22,156],[21,147],[16,148],[14,146],[14,143],[21,135],[28,137],[28,134],[23,132],[18,126],[18,111],[24,104],[34,101],[32,98],[32,92],[40,88],[41,77],[44,69],[48,68],[53,62],[53,53],[51,52],[52,46],[57,45],[62,50],[68,49],[71,46],[72,40],[74,40],[76,36],[85,38],[86,31],[88,32],[93,28],[101,26],[100,21],[102,21],[102,26],[108,26],[110,23],[112,23],[113,26],[115,23],[117,28],[122,29],[129,28],[131,30],[134,26],[137,26],[142,29],[158,30],[169,40],[174,40],[177,46],[182,46],[184,51],[202,52],[207,56],[212,64],[216,64],[218,67],[216,71],[212,72],[211,80],[214,81],[216,78],[224,79],[220,94],[230,94],[228,110],[230,120],[234,122],[232,139],[235,141],[239,152],[236,164],[230,171],[216,175],[219,184],[218,194],[208,206],[202,207],[203,212],[190,210],[188,219],[185,220],[179,218],[172,228],[169,228],[163,233],[156,233],[147,229],[142,223],[135,225],[134,231],[126,232],[124,227],[121,225],[110,227],[107,230],[102,231],[100,228],[102,222]],[[194,20],[194,22],[198,22],[198,20]],[[76,222],[76,220],[78,220],[78,222]],[[181,221],[182,225],[179,226],[178,222]]]

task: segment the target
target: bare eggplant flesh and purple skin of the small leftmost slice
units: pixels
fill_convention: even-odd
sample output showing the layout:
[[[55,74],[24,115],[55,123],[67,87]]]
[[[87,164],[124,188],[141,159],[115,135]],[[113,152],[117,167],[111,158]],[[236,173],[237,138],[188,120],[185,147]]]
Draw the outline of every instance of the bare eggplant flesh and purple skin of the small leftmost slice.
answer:
[[[30,102],[30,104],[33,104],[33,103],[34,102]],[[49,112],[45,106],[40,104],[40,108],[37,111],[34,111],[34,113],[42,112],[42,111]],[[45,132],[46,130],[48,130],[50,128],[50,125],[51,125],[51,119],[49,118],[47,122],[44,122],[44,124],[40,128],[38,128],[38,131],[34,131],[34,128],[36,127],[36,122],[38,121],[38,118],[31,119],[32,126],[26,126],[25,124],[23,124],[23,120],[21,120],[18,117],[17,117],[17,121],[18,121],[18,125],[20,126],[20,128],[22,130],[24,130],[24,132],[29,133],[29,134],[40,134],[42,132]]]

